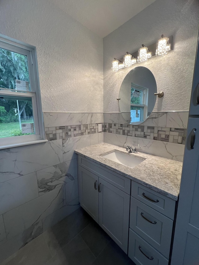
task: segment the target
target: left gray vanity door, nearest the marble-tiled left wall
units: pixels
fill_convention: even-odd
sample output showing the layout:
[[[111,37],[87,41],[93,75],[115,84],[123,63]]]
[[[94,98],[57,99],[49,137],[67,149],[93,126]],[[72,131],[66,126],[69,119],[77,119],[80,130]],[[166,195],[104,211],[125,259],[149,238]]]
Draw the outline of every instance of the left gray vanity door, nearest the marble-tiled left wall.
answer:
[[[99,223],[98,176],[79,166],[78,186],[81,207]]]

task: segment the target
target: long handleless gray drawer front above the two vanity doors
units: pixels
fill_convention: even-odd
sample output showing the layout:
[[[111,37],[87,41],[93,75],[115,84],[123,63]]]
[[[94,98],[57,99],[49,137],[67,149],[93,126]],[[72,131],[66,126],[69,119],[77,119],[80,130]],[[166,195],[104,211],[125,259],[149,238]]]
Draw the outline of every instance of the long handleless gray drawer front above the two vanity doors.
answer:
[[[78,155],[78,164],[81,167],[86,168],[88,171],[92,172],[96,176],[106,180],[113,186],[117,187],[120,190],[123,190],[125,193],[130,194],[131,192],[131,180],[116,173],[109,169],[98,165],[95,162],[90,161],[87,158],[84,158]]]

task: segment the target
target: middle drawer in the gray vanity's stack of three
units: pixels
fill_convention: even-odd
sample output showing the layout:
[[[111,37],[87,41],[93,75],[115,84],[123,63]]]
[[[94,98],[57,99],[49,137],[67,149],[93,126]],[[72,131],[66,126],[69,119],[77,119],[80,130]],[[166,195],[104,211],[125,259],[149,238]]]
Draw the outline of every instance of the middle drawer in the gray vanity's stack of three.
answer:
[[[169,258],[173,221],[131,197],[130,227]]]

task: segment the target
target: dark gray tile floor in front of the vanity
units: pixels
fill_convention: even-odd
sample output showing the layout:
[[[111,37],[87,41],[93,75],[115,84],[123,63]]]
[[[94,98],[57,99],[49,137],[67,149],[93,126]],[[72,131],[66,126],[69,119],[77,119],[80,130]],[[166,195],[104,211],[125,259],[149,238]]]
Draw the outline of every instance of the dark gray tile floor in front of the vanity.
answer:
[[[135,265],[79,208],[1,265]]]

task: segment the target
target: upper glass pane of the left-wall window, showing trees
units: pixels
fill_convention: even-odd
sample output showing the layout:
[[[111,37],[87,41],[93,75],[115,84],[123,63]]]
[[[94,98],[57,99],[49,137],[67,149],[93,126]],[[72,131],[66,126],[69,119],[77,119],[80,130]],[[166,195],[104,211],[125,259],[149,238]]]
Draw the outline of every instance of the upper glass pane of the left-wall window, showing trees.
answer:
[[[0,87],[30,91],[27,56],[0,48]]]

